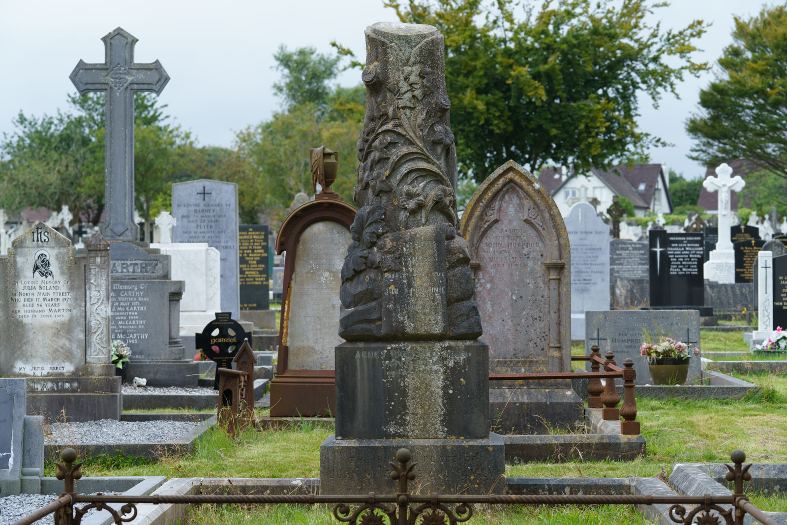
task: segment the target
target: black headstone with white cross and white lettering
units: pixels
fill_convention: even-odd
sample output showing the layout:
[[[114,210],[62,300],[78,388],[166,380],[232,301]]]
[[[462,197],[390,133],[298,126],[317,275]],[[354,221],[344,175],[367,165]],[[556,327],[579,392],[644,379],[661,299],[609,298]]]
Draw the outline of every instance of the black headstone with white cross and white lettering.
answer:
[[[704,305],[702,233],[650,232],[650,305]]]

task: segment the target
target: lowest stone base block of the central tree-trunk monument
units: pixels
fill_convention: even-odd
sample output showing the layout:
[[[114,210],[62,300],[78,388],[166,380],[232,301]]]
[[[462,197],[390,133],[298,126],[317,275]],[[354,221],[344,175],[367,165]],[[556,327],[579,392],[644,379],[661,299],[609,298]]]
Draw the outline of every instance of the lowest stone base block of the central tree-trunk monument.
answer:
[[[505,445],[486,439],[336,439],[320,446],[320,494],[396,494],[389,461],[407,448],[416,462],[417,494],[504,494]]]

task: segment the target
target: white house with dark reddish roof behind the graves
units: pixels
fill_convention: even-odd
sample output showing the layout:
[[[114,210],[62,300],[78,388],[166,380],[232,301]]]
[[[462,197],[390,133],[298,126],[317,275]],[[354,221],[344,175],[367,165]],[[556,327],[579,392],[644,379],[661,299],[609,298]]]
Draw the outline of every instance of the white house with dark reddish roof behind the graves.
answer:
[[[606,212],[612,197],[627,198],[637,216],[672,213],[670,178],[667,166],[619,165],[609,170],[592,168],[587,174],[564,173],[563,168],[543,168],[538,180],[552,194],[563,216],[577,202],[589,202],[597,212]]]

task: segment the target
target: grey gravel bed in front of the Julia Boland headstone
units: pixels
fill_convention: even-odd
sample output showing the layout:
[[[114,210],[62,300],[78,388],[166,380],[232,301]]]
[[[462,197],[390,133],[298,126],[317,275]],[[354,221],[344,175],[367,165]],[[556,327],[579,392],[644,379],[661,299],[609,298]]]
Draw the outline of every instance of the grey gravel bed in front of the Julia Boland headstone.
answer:
[[[171,443],[193,431],[200,423],[193,421],[116,421],[98,420],[53,423],[46,434],[46,445]]]

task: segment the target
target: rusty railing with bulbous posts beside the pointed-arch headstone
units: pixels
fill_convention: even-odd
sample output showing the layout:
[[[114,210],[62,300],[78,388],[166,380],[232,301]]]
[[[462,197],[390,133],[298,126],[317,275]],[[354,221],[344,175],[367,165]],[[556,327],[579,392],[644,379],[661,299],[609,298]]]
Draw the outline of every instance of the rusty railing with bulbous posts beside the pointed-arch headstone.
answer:
[[[601,357],[598,345],[590,347],[589,356],[571,356],[572,361],[590,361],[590,372],[555,372],[527,374],[490,374],[490,381],[510,380],[545,380],[545,379],[580,379],[589,378],[587,386],[588,407],[602,409],[601,419],[604,421],[620,421],[620,433],[638,435],[640,424],[637,421],[637,398],[634,396],[634,361],[629,357],[623,360],[623,367],[615,364],[615,354],[608,351]],[[600,371],[604,368],[604,372]],[[601,384],[601,379],[605,379]],[[618,409],[620,396],[615,388],[615,379],[623,379],[623,407]]]

